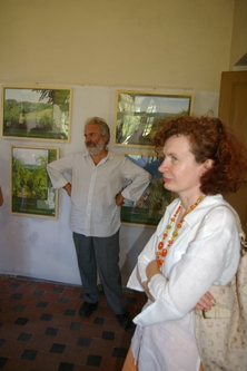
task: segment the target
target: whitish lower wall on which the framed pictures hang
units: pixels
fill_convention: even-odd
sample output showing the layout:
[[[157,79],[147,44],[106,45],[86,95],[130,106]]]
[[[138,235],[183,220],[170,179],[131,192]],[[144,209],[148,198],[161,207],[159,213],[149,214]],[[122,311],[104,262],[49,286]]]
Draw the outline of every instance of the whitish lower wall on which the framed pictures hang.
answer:
[[[70,87],[73,89],[70,143],[58,144],[0,138],[0,175],[4,195],[4,204],[0,207],[0,273],[72,284],[80,283],[71,231],[68,225],[70,199],[65,191],[59,191],[58,219],[16,216],[9,213],[9,147],[11,144],[58,146],[60,148],[60,157],[82,150],[85,148],[83,123],[88,117],[92,116],[103,117],[113,135],[116,90],[121,87]],[[135,87],[135,90],[140,90],[140,87]],[[145,89],[145,91],[149,90],[154,92],[151,89]],[[167,92],[168,90],[160,89],[156,91]],[[184,90],[172,91],[185,92]],[[186,90],[186,92],[195,94],[195,114],[207,114],[208,110],[213,110],[217,115],[218,92],[192,90]],[[124,153],[124,148],[116,147],[112,143],[111,140],[111,150],[119,154]],[[138,149],[134,148],[131,152],[138,153]],[[120,265],[124,284],[126,284],[136,264],[138,253],[152,233],[154,228],[150,227],[126,225],[121,227]]]

